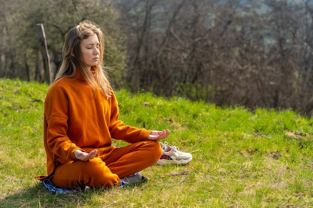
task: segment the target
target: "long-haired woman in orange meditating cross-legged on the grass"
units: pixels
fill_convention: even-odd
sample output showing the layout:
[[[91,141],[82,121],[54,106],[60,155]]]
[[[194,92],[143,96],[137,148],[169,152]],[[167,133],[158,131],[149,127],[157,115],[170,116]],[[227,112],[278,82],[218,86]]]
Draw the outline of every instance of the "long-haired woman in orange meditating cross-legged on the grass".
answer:
[[[112,187],[153,165],[169,130],[148,131],[118,120],[118,104],[102,68],[104,35],[82,21],[66,35],[63,61],[44,104],[47,176],[62,189]],[[130,145],[115,148],[111,138]],[[142,177],[144,179],[144,177]]]

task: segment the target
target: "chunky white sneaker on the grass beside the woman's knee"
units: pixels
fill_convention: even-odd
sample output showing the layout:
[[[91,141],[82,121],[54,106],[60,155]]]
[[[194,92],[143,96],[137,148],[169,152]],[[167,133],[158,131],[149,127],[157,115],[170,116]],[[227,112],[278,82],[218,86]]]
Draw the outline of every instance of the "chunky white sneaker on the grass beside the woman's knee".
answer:
[[[157,165],[164,164],[175,164],[175,165],[185,165],[188,164],[192,160],[192,155],[190,153],[180,152],[178,147],[169,146],[167,142],[161,143],[161,148],[163,150],[163,154],[156,162]]]

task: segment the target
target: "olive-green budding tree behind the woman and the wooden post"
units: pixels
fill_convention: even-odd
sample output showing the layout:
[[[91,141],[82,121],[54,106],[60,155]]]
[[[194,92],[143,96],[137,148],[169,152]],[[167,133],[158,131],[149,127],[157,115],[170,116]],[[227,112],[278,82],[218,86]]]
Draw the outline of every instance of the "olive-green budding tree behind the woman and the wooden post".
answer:
[[[0,11],[5,14],[0,15],[0,24],[5,28],[1,31],[5,32],[1,39],[5,40],[9,51],[0,46],[1,60],[5,59],[4,67],[0,68],[0,77],[19,77],[40,82],[44,80],[42,60],[38,57],[37,23],[44,25],[55,74],[61,63],[61,50],[67,31],[79,21],[89,19],[97,23],[107,37],[104,62],[108,67],[118,69],[109,70],[113,84],[122,83],[126,65],[122,45],[124,36],[116,24],[118,14],[109,0],[32,0],[31,3],[24,0],[1,1]]]

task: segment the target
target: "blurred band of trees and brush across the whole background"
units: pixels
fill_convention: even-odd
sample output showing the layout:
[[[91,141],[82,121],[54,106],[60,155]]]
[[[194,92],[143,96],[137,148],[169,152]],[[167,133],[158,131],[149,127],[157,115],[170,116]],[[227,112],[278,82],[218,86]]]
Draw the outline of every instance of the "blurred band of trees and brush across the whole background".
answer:
[[[0,0],[0,77],[42,81],[35,24],[54,65],[88,18],[108,37],[115,89],[222,105],[313,109],[311,0]]]

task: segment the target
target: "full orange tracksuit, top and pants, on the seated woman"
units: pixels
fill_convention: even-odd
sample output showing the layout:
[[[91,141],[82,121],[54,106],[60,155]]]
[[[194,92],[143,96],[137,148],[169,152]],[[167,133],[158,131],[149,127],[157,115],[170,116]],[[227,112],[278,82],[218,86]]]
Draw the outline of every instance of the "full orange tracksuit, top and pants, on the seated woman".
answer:
[[[59,188],[110,187],[123,178],[153,165],[162,150],[157,141],[147,141],[151,131],[125,126],[118,120],[115,95],[109,99],[92,89],[80,72],[55,81],[44,103],[44,149],[47,176]],[[131,143],[112,146],[111,138]],[[75,150],[97,155],[89,161],[74,157]]]

